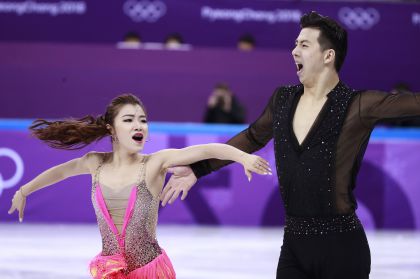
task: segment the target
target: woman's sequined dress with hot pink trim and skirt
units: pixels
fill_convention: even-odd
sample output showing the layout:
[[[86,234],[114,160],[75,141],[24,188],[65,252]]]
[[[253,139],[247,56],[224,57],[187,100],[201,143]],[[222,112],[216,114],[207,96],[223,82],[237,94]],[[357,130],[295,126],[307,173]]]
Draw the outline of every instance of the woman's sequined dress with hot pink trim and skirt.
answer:
[[[159,199],[146,186],[145,166],[140,167],[139,183],[132,186],[126,203],[121,232],[107,208],[97,168],[92,184],[92,202],[102,236],[102,252],[89,264],[93,278],[176,278],[172,263],[156,240]],[[103,186],[103,185],[102,185]]]

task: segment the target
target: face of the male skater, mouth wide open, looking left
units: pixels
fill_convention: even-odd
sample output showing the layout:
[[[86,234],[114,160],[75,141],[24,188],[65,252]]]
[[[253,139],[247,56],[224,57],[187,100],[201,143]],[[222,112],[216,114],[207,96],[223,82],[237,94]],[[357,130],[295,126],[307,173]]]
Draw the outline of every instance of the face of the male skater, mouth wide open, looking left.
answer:
[[[292,50],[297,75],[302,84],[310,85],[325,68],[324,52],[318,42],[320,30],[303,28]]]

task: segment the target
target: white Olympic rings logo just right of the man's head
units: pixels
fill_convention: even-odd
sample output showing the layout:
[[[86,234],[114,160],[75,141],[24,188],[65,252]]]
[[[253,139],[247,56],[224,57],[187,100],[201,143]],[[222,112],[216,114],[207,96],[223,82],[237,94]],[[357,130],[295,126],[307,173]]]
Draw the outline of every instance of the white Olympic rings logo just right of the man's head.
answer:
[[[380,14],[374,8],[343,7],[338,12],[338,18],[350,29],[368,30],[379,22]]]

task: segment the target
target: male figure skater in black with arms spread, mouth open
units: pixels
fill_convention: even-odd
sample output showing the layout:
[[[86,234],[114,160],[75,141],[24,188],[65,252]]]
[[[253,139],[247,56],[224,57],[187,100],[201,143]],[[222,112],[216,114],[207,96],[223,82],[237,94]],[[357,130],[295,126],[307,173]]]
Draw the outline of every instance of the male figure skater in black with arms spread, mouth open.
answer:
[[[375,124],[420,115],[420,97],[351,89],[338,74],[347,32],[316,12],[303,15],[300,25],[292,51],[300,84],[277,88],[261,116],[228,144],[252,153],[274,138],[286,212],[277,278],[369,278],[369,245],[355,214],[356,176]],[[228,163],[206,160],[176,171],[162,204],[181,191],[184,199],[197,178]]]

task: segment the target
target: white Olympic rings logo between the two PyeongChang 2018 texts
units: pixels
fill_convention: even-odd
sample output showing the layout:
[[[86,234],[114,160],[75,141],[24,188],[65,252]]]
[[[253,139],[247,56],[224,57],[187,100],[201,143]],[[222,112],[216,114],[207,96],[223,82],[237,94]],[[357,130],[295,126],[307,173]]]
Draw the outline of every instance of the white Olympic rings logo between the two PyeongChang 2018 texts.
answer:
[[[155,0],[128,0],[123,10],[135,22],[156,22],[166,13],[166,5]]]

